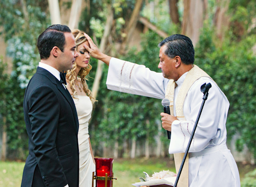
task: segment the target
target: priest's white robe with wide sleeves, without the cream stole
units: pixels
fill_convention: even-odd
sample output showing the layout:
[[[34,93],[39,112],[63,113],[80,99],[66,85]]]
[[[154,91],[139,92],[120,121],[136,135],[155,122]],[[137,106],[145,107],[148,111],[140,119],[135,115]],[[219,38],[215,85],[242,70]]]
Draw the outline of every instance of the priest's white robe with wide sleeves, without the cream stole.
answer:
[[[186,74],[176,81],[175,116],[176,99]],[[111,58],[106,85],[111,90],[164,99],[168,81],[162,73],[150,71],[144,65]],[[186,121],[173,122],[169,154],[185,152],[202,104],[200,87],[204,83],[211,83],[212,87],[189,149],[189,186],[240,187],[237,164],[226,147],[229,102],[216,83],[207,77],[198,79],[187,93],[183,105]]]

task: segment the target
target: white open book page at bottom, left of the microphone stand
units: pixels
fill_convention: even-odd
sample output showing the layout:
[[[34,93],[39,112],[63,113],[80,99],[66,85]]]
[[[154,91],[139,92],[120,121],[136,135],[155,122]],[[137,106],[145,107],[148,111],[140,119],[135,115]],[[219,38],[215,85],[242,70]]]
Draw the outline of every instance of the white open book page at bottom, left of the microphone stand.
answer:
[[[136,187],[142,186],[142,185],[147,185],[147,186],[154,186],[157,185],[160,187],[159,184],[167,184],[169,186],[173,186],[175,183],[176,177],[169,177],[169,178],[164,178],[164,179],[156,179],[156,180],[150,180],[150,181],[145,181],[145,182],[136,182],[133,185]]]

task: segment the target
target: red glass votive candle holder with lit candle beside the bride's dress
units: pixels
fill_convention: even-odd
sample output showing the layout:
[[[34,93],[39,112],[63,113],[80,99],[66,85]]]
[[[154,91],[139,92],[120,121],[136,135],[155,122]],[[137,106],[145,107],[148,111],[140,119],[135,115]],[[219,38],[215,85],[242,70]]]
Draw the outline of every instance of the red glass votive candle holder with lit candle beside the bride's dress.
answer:
[[[106,173],[108,177],[113,177],[113,158],[94,158],[96,162],[96,176],[105,177]],[[107,187],[112,186],[112,180],[108,180]],[[96,187],[105,187],[104,180],[96,180]]]

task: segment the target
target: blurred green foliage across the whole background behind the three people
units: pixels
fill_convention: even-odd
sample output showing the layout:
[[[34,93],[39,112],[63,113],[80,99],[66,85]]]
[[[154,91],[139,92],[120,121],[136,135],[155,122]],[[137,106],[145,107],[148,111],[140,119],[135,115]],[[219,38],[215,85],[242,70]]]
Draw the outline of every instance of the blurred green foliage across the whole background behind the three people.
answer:
[[[60,1],[61,2],[61,1]],[[114,21],[111,39],[113,45],[124,39],[125,27],[129,22],[136,1],[113,1]],[[152,1],[150,1],[152,2]],[[62,2],[63,3],[63,2]],[[143,4],[141,15],[150,19],[159,29],[166,33],[180,33],[181,25],[173,24],[166,16],[165,1],[158,1],[154,17],[152,12]],[[195,46],[195,63],[203,68],[224,91],[230,102],[227,120],[228,137],[239,134],[238,150],[242,151],[246,145],[256,158],[256,59],[252,46],[256,41],[255,20],[256,2],[250,0],[231,0],[228,7],[230,27],[224,33],[224,38],[216,35],[213,23],[214,11],[217,1],[210,0],[209,16],[204,21],[200,40]],[[6,118],[8,134],[8,158],[25,159],[27,156],[27,133],[23,117],[23,98],[25,88],[36,70],[39,55],[36,49],[38,35],[50,26],[48,2],[39,1],[8,1],[0,0],[1,36],[7,43],[7,54],[12,57],[13,71],[5,73],[5,62],[0,61],[0,124],[4,125]],[[104,24],[106,21],[106,1],[91,1],[90,11],[86,8],[82,12],[79,29],[91,36],[95,35],[100,43]],[[179,5],[181,3],[179,2]],[[71,1],[66,1],[67,9]],[[183,9],[179,8],[182,15]],[[182,20],[182,17],[180,17]],[[129,60],[149,67],[152,71],[159,71],[159,48],[157,44],[162,40],[153,31],[142,34],[141,49],[132,48],[121,56],[116,48],[109,48],[112,54],[123,60]],[[97,61],[92,59],[93,70],[91,77],[95,76]],[[104,66],[103,76],[98,93],[99,102],[95,106],[90,123],[90,134],[93,146],[99,156],[106,145],[115,142],[119,147],[125,141],[131,144],[131,139],[156,144],[156,137],[160,134],[162,143],[167,146],[164,130],[161,126],[160,115],[155,112],[162,111],[160,100],[128,95],[106,89],[105,81],[108,67]],[[88,84],[92,87],[93,79]],[[122,149],[122,148],[120,148]],[[121,154],[125,156],[125,154]],[[127,155],[126,155],[127,156]]]

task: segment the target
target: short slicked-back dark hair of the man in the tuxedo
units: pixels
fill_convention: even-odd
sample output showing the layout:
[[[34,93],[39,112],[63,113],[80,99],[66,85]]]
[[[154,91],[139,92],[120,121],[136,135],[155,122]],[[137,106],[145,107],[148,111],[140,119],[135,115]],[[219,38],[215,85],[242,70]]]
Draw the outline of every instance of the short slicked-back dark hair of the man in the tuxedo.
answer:
[[[71,33],[68,26],[52,25],[39,35],[37,48],[41,59],[48,59],[54,46],[57,46],[63,52],[66,44],[64,33]]]

